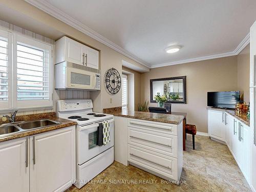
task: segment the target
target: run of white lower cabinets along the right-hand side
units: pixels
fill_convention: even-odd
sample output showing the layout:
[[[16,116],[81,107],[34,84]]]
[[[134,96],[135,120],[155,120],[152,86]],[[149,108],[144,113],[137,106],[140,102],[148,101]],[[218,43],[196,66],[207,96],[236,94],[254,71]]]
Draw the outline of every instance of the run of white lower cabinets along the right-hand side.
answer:
[[[225,141],[234,159],[237,161],[247,182],[250,184],[250,130],[249,126],[238,120],[236,117],[224,112],[208,109],[208,132],[210,137],[212,133],[220,131],[219,135],[224,132],[223,139]],[[219,114],[219,115],[216,115]],[[219,122],[223,124],[220,125]],[[218,122],[218,123],[212,123]],[[215,131],[213,131],[215,130]],[[216,135],[216,134],[215,134]],[[216,138],[216,137],[214,137]]]

